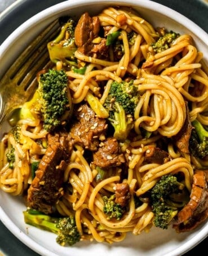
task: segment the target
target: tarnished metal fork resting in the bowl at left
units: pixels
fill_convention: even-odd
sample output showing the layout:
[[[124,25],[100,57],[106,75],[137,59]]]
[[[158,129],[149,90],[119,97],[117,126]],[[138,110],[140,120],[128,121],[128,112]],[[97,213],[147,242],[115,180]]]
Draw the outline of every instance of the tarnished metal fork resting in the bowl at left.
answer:
[[[37,72],[49,66],[47,43],[55,38],[58,28],[59,21],[55,20],[20,54],[0,80],[0,128],[12,110],[33,94]]]

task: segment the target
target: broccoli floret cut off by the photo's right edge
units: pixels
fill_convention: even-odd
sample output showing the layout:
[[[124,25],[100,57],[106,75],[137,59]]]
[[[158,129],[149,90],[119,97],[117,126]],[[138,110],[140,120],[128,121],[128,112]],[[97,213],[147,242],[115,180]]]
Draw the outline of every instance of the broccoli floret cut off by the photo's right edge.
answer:
[[[192,126],[194,129],[189,139],[189,151],[193,156],[202,159],[208,155],[208,131],[197,120],[192,122]]]

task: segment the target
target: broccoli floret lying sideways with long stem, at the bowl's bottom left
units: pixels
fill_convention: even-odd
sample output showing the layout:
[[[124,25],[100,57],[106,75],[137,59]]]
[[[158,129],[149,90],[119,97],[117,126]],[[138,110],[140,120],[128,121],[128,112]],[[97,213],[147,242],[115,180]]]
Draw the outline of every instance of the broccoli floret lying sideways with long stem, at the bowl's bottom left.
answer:
[[[72,246],[80,241],[81,234],[73,216],[51,217],[36,210],[24,211],[23,214],[26,224],[57,234],[56,242],[61,246]]]

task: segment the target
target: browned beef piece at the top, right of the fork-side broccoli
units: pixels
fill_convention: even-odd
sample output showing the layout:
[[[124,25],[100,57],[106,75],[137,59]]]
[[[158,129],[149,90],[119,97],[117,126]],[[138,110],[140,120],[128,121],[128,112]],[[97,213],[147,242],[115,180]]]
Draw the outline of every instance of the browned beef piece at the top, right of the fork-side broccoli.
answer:
[[[74,31],[75,43],[78,46],[78,51],[87,56],[95,58],[107,58],[108,46],[106,40],[101,39],[100,42],[92,42],[98,37],[100,31],[100,21],[98,16],[90,17],[85,12],[78,20],[77,26]]]

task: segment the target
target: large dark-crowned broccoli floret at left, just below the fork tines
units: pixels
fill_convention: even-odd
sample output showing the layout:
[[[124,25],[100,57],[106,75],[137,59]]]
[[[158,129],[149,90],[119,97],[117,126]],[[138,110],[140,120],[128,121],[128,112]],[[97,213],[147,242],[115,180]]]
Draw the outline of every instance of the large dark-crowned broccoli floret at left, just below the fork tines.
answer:
[[[20,109],[20,118],[34,119],[33,114],[37,114],[43,128],[52,131],[67,121],[71,111],[67,74],[63,70],[48,70],[39,76],[37,91]]]

